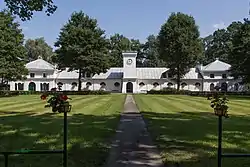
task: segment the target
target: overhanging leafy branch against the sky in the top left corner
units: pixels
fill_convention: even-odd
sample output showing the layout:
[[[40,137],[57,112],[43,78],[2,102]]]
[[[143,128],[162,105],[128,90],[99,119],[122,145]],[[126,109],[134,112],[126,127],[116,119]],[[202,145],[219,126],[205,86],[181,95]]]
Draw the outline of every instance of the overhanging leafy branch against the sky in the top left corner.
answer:
[[[7,8],[14,15],[20,17],[21,20],[30,20],[36,11],[43,11],[50,16],[53,14],[57,6],[53,0],[4,0]]]

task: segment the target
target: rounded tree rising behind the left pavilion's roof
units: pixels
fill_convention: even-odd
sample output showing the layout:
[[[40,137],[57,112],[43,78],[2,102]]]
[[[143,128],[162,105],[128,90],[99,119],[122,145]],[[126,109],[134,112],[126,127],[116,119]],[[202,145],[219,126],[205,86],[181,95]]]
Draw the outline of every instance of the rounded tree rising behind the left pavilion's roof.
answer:
[[[28,53],[28,60],[33,61],[41,57],[43,60],[52,62],[54,55],[52,47],[50,47],[44,38],[28,39],[25,42],[25,48]]]

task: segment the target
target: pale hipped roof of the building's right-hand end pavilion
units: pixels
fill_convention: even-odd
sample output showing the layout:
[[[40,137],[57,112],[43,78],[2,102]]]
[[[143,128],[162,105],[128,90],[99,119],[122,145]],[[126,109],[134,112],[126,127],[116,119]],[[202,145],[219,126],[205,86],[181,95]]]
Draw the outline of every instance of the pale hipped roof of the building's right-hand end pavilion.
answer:
[[[204,66],[202,71],[227,71],[231,67],[230,64],[220,61],[216,59],[214,62]]]

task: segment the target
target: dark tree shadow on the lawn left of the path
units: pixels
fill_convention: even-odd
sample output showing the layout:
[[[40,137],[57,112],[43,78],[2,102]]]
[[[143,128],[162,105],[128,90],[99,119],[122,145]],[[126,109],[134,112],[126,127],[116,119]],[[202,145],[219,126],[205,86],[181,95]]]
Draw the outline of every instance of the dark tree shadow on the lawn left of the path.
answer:
[[[63,148],[63,117],[58,114],[0,111],[0,151]],[[8,114],[8,115],[7,115]],[[60,114],[61,115],[61,114]],[[119,114],[68,117],[68,166],[101,166],[107,156],[109,139],[115,133]],[[106,140],[104,140],[106,139]],[[62,155],[11,156],[9,167],[60,167]],[[0,156],[0,166],[4,166]]]

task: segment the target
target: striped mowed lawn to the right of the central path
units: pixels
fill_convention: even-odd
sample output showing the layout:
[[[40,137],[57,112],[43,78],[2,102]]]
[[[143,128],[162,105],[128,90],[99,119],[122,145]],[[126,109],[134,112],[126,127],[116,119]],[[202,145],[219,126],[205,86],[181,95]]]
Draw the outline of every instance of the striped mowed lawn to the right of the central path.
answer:
[[[204,97],[135,95],[166,166],[217,167],[218,118]],[[223,152],[250,153],[250,99],[229,97]],[[250,158],[224,158],[224,167],[249,167]]]

